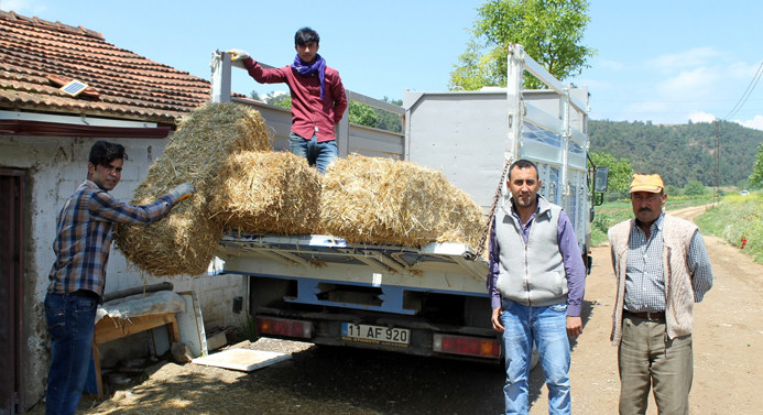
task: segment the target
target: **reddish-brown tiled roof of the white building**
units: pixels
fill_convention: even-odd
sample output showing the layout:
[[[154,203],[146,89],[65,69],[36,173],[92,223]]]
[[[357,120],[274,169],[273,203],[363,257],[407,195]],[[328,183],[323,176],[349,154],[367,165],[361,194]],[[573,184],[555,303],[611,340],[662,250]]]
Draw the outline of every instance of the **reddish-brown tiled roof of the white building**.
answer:
[[[76,97],[66,81],[87,84]],[[107,43],[83,26],[0,11],[0,109],[172,124],[209,101],[209,81]]]

